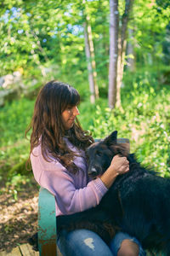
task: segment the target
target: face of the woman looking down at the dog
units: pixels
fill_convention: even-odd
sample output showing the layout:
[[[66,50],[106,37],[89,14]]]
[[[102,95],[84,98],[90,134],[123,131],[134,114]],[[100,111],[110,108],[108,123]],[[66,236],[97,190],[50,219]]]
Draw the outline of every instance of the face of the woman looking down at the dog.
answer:
[[[80,113],[78,111],[77,106],[67,107],[63,111],[63,113],[61,113],[61,119],[62,119],[63,125],[65,126],[65,130],[71,129],[71,127],[74,125],[75,119],[78,114]]]

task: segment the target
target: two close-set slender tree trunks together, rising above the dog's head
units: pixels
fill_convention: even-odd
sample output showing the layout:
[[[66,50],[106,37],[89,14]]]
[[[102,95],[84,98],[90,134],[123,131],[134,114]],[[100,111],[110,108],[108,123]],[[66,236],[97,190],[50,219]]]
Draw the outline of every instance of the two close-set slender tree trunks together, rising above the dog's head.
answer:
[[[127,46],[127,23],[133,0],[126,0],[124,14],[119,22],[118,0],[110,0],[110,69],[109,107],[121,108],[121,84]]]

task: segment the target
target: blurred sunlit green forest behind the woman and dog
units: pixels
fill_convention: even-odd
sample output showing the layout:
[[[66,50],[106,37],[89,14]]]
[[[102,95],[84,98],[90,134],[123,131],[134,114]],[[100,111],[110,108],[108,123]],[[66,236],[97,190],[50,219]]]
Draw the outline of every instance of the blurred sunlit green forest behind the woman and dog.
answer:
[[[113,15],[118,14],[119,20],[111,26],[116,7]],[[168,0],[0,3],[1,194],[8,192],[17,201],[22,184],[31,184],[25,131],[37,92],[51,79],[69,83],[80,92],[79,119],[93,137],[117,130],[118,137],[129,138],[131,152],[143,165],[169,177],[169,16]],[[120,96],[116,96],[116,84],[111,85],[116,69],[115,83],[122,69]],[[110,96],[115,96],[115,102],[109,102]]]

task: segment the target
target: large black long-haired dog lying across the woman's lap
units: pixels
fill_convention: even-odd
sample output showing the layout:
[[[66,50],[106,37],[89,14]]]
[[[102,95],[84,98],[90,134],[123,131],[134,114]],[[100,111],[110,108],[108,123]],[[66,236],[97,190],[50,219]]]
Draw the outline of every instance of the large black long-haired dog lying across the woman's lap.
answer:
[[[57,217],[59,230],[94,230],[106,242],[122,230],[138,238],[144,249],[169,256],[170,180],[140,166],[123,144],[116,143],[116,134],[88,148],[88,173],[97,177],[105,172],[116,154],[127,156],[129,172],[116,177],[99,206]]]

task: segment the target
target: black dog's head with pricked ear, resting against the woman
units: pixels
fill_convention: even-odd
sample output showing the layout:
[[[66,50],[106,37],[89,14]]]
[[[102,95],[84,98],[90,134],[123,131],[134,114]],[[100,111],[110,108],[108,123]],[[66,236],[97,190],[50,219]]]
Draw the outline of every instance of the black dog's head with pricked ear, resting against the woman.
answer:
[[[88,159],[88,175],[98,177],[107,170],[112,158],[116,154],[127,156],[127,147],[123,143],[117,143],[117,131],[113,131],[104,140],[88,147],[86,154]]]

